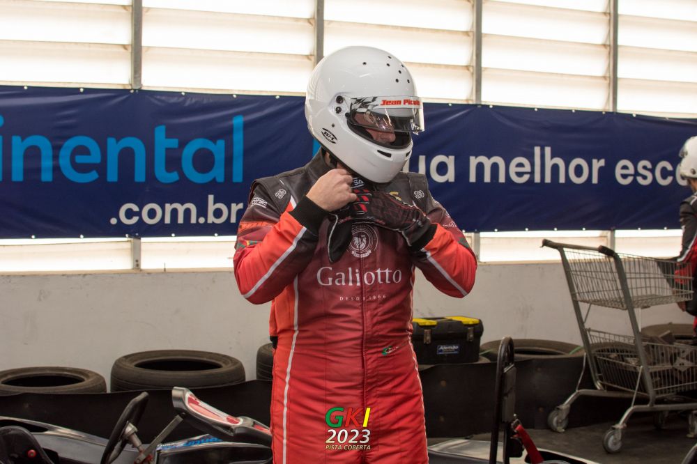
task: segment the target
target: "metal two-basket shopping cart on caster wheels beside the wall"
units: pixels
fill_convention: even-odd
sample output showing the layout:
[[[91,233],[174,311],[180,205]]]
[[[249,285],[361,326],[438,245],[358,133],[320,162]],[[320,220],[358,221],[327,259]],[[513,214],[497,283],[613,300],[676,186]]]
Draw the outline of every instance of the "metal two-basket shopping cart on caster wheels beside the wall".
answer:
[[[678,395],[697,389],[697,346],[643,337],[635,313],[657,304],[691,300],[691,271],[675,261],[619,254],[607,247],[551,240],[543,240],[542,246],[557,249],[561,255],[595,384],[595,389],[576,387],[576,392],[549,414],[549,428],[559,433],[565,430],[571,404],[579,396],[602,396],[631,399],[620,422],[604,435],[608,453],[622,448],[622,434],[634,412],[654,412],[654,424],[663,428],[668,411],[689,410],[689,436],[697,437],[697,402]],[[581,303],[588,303],[585,316]],[[593,305],[627,311],[631,335],[586,327]],[[636,404],[638,398],[648,402]]]

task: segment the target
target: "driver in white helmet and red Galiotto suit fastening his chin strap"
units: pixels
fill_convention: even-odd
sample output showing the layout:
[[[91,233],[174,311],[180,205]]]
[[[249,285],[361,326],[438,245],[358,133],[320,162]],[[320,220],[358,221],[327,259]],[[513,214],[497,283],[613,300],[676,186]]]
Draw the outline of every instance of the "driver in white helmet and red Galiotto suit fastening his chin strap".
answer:
[[[271,301],[276,463],[428,462],[411,346],[415,268],[464,297],[477,263],[425,176],[402,172],[422,111],[393,54],[337,50],[305,98],[322,150],[252,184],[235,277],[247,300]]]

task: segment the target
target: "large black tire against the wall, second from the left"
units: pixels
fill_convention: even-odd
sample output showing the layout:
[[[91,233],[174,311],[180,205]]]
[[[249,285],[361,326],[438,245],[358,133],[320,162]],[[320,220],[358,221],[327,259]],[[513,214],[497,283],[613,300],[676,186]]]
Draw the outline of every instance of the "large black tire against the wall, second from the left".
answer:
[[[141,351],[119,357],[112,366],[112,392],[220,387],[244,381],[245,367],[239,359],[208,351]]]

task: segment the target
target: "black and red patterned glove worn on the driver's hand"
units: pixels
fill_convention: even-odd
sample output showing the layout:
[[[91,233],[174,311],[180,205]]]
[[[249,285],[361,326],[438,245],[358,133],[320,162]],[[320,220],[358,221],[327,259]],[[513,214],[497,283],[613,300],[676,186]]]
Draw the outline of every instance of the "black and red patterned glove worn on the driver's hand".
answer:
[[[414,249],[421,249],[436,233],[435,224],[415,205],[387,192],[360,189],[355,194],[358,199],[350,205],[354,222],[369,222],[399,232]]]

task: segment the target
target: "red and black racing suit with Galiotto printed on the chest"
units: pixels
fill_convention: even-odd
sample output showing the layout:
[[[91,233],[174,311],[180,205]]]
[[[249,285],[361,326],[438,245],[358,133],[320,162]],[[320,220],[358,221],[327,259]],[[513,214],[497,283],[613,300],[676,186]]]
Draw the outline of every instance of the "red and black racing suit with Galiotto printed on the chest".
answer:
[[[395,231],[355,224],[348,249],[330,263],[331,215],[305,197],[329,169],[320,153],[255,181],[238,228],[237,284],[252,303],[271,301],[277,337],[274,462],[427,463],[411,346],[415,267],[443,293],[464,297],[475,256],[425,177],[399,173],[380,189],[427,212],[434,224],[427,243],[409,249]]]

